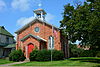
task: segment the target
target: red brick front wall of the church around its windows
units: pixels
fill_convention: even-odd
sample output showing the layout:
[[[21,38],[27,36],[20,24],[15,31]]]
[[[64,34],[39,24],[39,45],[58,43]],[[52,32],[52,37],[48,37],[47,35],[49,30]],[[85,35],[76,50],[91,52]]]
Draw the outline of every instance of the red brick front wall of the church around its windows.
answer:
[[[34,32],[35,27],[40,28],[40,31],[38,33]],[[56,31],[57,31],[57,38],[54,37],[54,48],[56,50],[61,50],[60,31],[58,31],[58,30],[56,30]],[[22,39],[24,36],[26,36],[28,34],[40,36],[41,38],[44,38],[45,40],[47,40],[47,49],[48,49],[48,38],[49,38],[49,36],[52,35],[52,27],[51,26],[40,23],[38,21],[33,23],[32,25],[30,25],[28,28],[24,29],[17,35],[18,47],[22,48],[23,47],[22,44],[25,46],[30,42],[34,42],[33,44],[36,45],[37,47],[39,47],[39,41],[37,41],[36,39],[28,38],[24,42],[20,41],[20,39]]]

